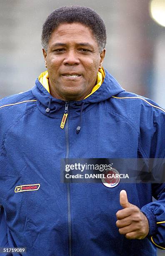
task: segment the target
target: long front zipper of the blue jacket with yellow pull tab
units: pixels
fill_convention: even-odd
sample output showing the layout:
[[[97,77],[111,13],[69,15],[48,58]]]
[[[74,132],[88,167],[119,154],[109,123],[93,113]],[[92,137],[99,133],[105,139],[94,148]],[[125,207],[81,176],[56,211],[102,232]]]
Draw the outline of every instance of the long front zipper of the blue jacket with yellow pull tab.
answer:
[[[66,159],[66,164],[68,163],[68,159],[69,159],[69,118],[67,118],[67,115],[69,114],[68,106],[69,106],[69,102],[66,102],[65,103],[65,113],[62,117],[62,120],[63,120],[64,117],[66,117],[64,122],[63,122],[63,128],[64,128],[65,123],[66,123],[66,126],[65,126],[65,137],[66,137],[66,157],[65,157],[65,159]],[[72,223],[71,223],[71,209],[70,209],[70,183],[68,182],[66,184],[66,186],[67,186],[68,247],[69,247],[69,256],[72,256]]]

